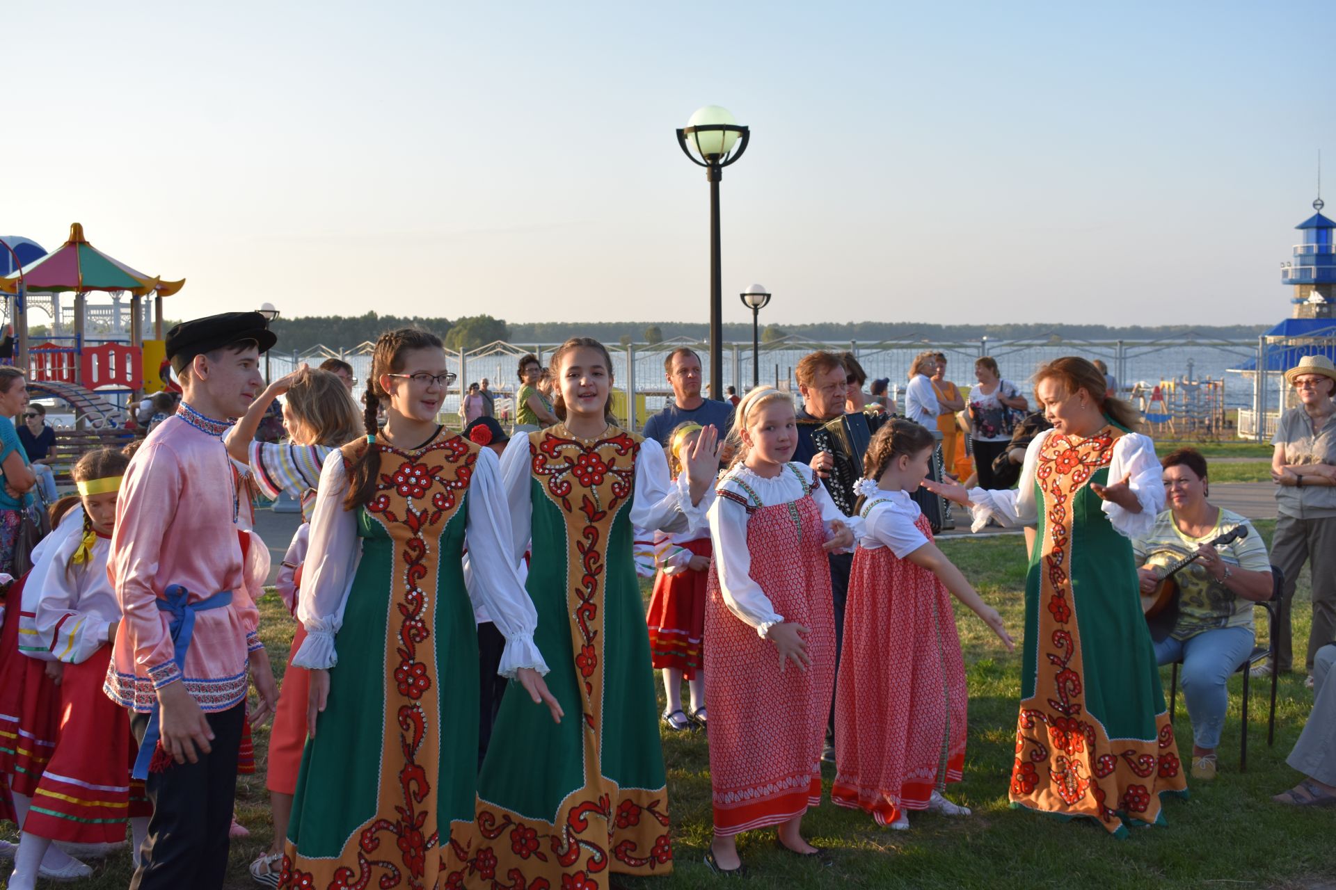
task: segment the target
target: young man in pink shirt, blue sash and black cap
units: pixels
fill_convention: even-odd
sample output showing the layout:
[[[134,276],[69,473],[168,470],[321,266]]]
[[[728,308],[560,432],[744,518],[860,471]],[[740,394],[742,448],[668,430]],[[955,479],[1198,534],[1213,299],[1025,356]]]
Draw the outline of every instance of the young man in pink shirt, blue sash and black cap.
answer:
[[[131,890],[222,887],[246,717],[278,701],[259,611],[246,595],[236,519],[244,506],[222,436],[265,388],[259,355],[275,342],[258,312],[178,324],[167,358],[176,414],[130,462],[107,574],[122,620],[106,693],[131,710],[134,774],[154,815]]]

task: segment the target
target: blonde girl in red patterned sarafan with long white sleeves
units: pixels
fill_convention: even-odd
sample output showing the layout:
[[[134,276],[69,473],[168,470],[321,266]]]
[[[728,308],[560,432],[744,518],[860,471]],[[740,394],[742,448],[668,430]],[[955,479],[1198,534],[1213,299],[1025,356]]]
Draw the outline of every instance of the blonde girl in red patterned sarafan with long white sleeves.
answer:
[[[822,745],[835,681],[835,614],[826,554],[854,546],[847,519],[798,447],[792,396],[756,388],[737,403],[733,463],[709,508],[715,564],[705,602],[709,781],[715,839],[705,862],[743,871],[736,835],[778,826],[798,855],[822,799]],[[850,523],[850,524],[846,524]]]

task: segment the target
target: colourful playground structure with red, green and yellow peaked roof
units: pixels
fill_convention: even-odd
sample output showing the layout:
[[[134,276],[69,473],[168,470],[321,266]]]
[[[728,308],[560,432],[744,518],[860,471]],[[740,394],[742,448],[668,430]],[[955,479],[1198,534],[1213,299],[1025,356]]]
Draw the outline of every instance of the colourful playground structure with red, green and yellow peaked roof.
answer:
[[[184,279],[163,282],[103,254],[79,223],[49,254],[23,238],[0,239],[0,247],[8,271],[0,276],[0,294],[13,328],[12,362],[24,370],[31,390],[67,402],[77,426],[103,430],[118,426],[126,400],[162,388],[163,298],[179,291]],[[72,295],[68,310],[65,294]],[[146,296],[152,296],[148,340]],[[90,298],[107,303],[91,307]],[[49,336],[37,344],[29,344],[32,310],[51,319]]]

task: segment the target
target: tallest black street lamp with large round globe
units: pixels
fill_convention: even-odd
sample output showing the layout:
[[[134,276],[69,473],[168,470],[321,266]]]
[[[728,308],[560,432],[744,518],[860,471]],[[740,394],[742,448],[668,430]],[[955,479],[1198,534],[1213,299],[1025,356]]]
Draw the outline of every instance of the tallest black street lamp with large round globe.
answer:
[[[740,137],[740,139],[739,139]],[[709,380],[711,395],[724,392],[724,291],[719,264],[719,180],[724,167],[747,151],[751,131],[739,127],[727,109],[719,105],[697,108],[687,125],[677,131],[677,144],[691,163],[705,168],[709,180]],[[737,151],[733,151],[733,145]],[[692,153],[695,149],[695,155]]]

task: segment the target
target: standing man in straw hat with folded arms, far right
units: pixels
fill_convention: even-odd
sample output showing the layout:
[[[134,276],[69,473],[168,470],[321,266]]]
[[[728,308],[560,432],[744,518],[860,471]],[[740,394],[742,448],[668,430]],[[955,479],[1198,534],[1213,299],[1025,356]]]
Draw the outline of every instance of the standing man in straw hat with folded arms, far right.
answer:
[[[1313,578],[1313,628],[1308,635],[1308,685],[1313,656],[1336,640],[1336,366],[1324,355],[1305,355],[1285,371],[1299,394],[1299,407],[1280,415],[1272,444],[1271,476],[1276,480],[1276,536],[1272,559],[1285,572],[1276,627],[1276,660],[1255,669],[1292,669],[1291,602],[1299,570],[1309,563]]]

